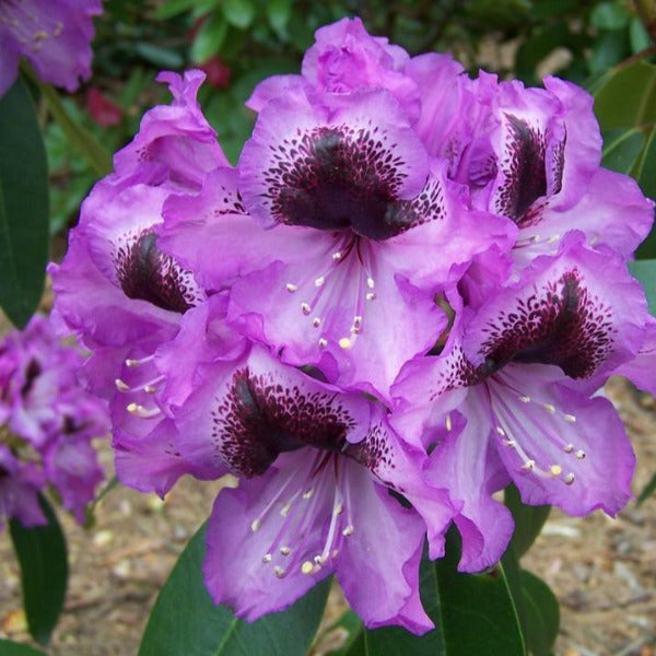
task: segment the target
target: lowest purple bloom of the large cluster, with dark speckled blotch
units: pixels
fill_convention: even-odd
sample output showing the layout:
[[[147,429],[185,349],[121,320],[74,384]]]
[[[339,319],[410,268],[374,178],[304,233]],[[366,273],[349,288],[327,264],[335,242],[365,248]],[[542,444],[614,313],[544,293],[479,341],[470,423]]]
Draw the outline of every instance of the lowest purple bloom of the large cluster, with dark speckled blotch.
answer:
[[[444,490],[422,481],[422,454],[389,429],[378,403],[282,365],[262,347],[226,342],[220,306],[213,297],[189,312],[157,356],[177,401],[176,447],[214,477],[241,477],[238,489],[221,492],[208,528],[212,598],[251,621],[335,573],[368,626],[431,629],[419,561],[426,525],[443,553],[453,508]]]

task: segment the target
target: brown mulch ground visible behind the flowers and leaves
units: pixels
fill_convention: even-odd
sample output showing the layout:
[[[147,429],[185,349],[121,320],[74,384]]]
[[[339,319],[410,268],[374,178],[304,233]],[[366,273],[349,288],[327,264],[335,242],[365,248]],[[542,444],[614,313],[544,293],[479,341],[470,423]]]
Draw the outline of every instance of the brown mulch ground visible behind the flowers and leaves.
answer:
[[[609,395],[637,453],[639,492],[656,471],[656,403],[621,382],[611,382]],[[109,453],[105,458],[110,467]],[[99,504],[91,531],[62,517],[71,578],[52,656],[137,653],[156,593],[209,515],[216,489],[184,480],[163,503],[118,488]],[[523,564],[542,576],[561,602],[558,655],[656,655],[656,496],[640,508],[630,504],[617,519],[553,512]],[[27,641],[7,532],[0,535],[0,636]],[[333,594],[329,612],[340,604]]]

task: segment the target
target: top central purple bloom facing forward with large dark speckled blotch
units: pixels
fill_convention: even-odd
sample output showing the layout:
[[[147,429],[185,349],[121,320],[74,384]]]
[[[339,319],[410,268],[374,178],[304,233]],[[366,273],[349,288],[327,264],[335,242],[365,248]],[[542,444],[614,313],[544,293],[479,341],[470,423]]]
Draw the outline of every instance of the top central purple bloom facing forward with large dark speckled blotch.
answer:
[[[166,206],[162,247],[207,289],[238,276],[229,320],[284,362],[385,397],[445,327],[435,294],[515,226],[467,210],[387,91],[324,101],[267,103],[238,173]]]

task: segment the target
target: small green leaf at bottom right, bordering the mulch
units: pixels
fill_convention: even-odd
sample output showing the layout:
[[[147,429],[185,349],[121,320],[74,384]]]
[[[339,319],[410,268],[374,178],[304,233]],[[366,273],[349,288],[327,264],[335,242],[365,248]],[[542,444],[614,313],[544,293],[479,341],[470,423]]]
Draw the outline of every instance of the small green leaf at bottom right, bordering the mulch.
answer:
[[[560,607],[551,588],[528,570],[519,572],[526,645],[532,656],[549,656],[560,628]]]

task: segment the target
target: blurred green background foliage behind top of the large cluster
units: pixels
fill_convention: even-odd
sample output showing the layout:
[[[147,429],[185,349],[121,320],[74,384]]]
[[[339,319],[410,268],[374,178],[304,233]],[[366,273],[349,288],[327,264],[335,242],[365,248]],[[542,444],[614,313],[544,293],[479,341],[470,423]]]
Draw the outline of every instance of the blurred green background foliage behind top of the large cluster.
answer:
[[[632,173],[656,197],[656,69],[652,0],[106,0],[96,22],[94,75],[63,101],[74,121],[109,151],[129,141],[143,112],[167,102],[163,69],[200,67],[206,116],[235,162],[254,116],[244,107],[259,80],[297,72],[317,27],[360,15],[368,31],[411,55],[450,51],[468,70],[539,84],[555,73],[597,95],[605,164]],[[653,32],[656,32],[653,30]],[[58,122],[46,127],[51,234],[75,221],[97,167],[71,153]],[[654,151],[654,152],[652,152]],[[646,248],[646,250],[645,250]],[[656,256],[656,246],[643,247]],[[651,254],[651,255],[649,255]]]

